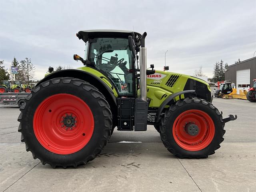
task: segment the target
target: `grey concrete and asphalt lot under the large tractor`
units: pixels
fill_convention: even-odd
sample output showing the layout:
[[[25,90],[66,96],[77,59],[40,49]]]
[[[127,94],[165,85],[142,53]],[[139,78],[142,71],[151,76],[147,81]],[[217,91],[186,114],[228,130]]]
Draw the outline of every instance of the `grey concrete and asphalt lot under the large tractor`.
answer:
[[[0,191],[256,191],[256,103],[214,99],[228,122],[221,148],[207,159],[178,159],[153,126],[114,131],[101,155],[78,168],[43,166],[20,143],[15,106],[0,106]],[[126,142],[122,142],[126,141]],[[134,142],[134,143],[129,143]]]

